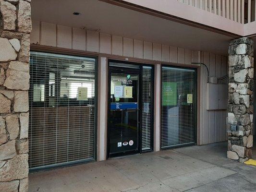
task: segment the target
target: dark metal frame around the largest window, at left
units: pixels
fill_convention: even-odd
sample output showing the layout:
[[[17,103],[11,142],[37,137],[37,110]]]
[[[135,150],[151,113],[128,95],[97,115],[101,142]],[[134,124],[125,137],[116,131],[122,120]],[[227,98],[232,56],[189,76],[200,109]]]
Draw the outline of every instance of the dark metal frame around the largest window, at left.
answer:
[[[55,168],[62,168],[62,167],[70,167],[73,165],[79,165],[87,162],[94,162],[97,161],[97,140],[98,140],[98,55],[90,55],[87,53],[80,53],[75,51],[68,51],[68,50],[59,50],[59,49],[52,49],[52,48],[37,48],[37,47],[30,47],[30,51],[37,51],[37,52],[44,52],[44,53],[55,53],[55,54],[62,54],[62,55],[69,55],[69,56],[80,56],[80,57],[88,57],[95,59],[95,90],[94,90],[94,99],[95,99],[95,111],[94,111],[94,158],[93,159],[85,159],[85,160],[77,160],[77,161],[70,161],[65,163],[58,163],[54,165],[47,165],[41,166],[37,168],[29,168],[29,173],[38,172],[41,170],[50,170]],[[30,111],[30,108],[29,108]],[[28,141],[29,142],[29,141]]]

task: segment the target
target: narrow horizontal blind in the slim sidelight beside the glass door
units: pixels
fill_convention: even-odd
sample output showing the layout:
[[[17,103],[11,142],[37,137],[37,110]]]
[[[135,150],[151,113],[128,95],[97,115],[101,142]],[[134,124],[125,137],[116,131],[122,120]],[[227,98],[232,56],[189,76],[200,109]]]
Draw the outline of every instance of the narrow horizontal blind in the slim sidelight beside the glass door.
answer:
[[[142,120],[141,120],[141,141],[142,151],[152,150],[151,129],[152,126],[152,67],[143,66],[142,70]]]

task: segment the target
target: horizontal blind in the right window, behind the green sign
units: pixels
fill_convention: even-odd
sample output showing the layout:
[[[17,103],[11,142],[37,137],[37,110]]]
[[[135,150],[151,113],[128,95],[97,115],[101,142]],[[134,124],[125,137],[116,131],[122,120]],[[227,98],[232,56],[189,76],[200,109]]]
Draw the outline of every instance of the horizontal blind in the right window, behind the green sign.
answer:
[[[195,143],[195,70],[162,67],[161,148]]]

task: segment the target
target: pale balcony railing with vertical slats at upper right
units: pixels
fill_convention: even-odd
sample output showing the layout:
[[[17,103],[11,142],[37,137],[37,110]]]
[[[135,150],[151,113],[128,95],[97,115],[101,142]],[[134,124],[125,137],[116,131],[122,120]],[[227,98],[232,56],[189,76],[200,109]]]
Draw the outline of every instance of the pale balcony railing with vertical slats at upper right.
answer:
[[[217,14],[234,22],[256,21],[256,0],[178,0],[182,3]]]

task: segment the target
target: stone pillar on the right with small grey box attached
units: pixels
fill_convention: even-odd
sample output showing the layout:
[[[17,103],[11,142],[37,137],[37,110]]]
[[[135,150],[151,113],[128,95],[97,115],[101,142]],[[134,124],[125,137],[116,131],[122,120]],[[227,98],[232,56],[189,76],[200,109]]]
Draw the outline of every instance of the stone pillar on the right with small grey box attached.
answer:
[[[228,125],[227,156],[240,162],[252,157],[253,77],[253,40],[232,40],[229,46],[228,118],[237,121],[237,131],[232,131]]]

